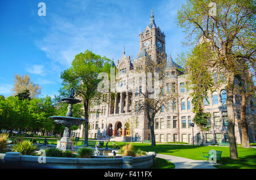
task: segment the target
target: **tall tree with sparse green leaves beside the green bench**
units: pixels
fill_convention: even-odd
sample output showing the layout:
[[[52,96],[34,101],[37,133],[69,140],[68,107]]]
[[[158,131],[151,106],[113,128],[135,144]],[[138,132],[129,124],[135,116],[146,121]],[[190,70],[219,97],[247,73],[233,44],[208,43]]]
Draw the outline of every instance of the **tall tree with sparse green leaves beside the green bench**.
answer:
[[[200,37],[207,38],[217,54],[213,64],[226,71],[230,158],[238,158],[234,134],[234,78],[241,58],[255,65],[255,9],[253,0],[216,0],[213,3],[187,0],[177,15],[177,24],[188,33],[188,41],[193,45]],[[251,67],[255,70],[255,66]]]

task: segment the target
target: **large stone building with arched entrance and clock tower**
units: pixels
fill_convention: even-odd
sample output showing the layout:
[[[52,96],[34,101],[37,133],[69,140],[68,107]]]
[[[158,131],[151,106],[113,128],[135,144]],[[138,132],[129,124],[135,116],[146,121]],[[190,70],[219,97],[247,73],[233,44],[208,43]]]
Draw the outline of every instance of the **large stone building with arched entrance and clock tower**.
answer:
[[[89,115],[89,138],[98,138],[107,140],[106,130],[112,127],[113,136],[110,140],[123,141],[129,140],[132,136],[134,141],[151,140],[151,132],[146,115],[142,112],[138,116],[138,121],[135,122],[133,134],[127,129],[126,121],[128,118],[134,117],[133,108],[136,109],[140,101],[141,86],[139,82],[134,82],[133,78],[128,76],[129,72],[142,69],[145,66],[145,58],[150,57],[152,60],[160,54],[166,54],[164,32],[156,26],[154,15],[151,12],[150,23],[147,25],[144,32],[139,34],[139,53],[138,57],[131,62],[131,57],[126,56],[125,50],[120,60],[117,61],[117,70],[119,71],[119,80],[116,82],[117,96],[109,96],[109,102],[101,102],[100,100],[93,101],[93,106],[90,108]],[[162,109],[155,117],[155,139],[156,142],[186,142],[200,143],[201,140],[206,144],[215,144],[219,142],[228,142],[228,114],[226,110],[226,91],[225,86],[220,90],[213,92],[208,97],[208,103],[205,101],[205,111],[212,114],[209,118],[210,130],[204,132],[202,136],[200,128],[195,125],[193,127],[192,136],[192,98],[189,97],[189,89],[186,88],[185,74],[180,71],[172,59],[167,63],[167,68],[170,71],[169,91],[178,92],[179,98],[177,101],[172,101],[170,108]],[[217,77],[214,77],[217,78]],[[135,89],[130,91],[129,85],[135,84]],[[137,86],[137,87],[136,87]],[[168,91],[168,89],[167,89]],[[112,102],[112,103],[110,103]],[[234,97],[234,106],[240,104],[237,96]],[[249,113],[254,113],[252,110],[247,110]],[[236,140],[241,143],[241,128],[238,126],[240,114],[236,113]],[[73,131],[73,136],[83,137],[84,134],[80,127],[79,130]],[[249,140],[255,142],[254,129],[249,128]]]

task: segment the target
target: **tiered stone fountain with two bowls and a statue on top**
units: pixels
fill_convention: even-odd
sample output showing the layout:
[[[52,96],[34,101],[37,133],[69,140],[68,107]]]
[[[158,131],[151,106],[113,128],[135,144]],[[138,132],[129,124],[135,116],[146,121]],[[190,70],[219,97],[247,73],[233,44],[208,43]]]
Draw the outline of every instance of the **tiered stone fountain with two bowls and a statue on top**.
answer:
[[[57,148],[61,149],[62,151],[66,150],[73,150],[73,146],[75,142],[72,142],[71,140],[71,126],[80,126],[82,122],[88,123],[87,119],[82,119],[82,118],[75,118],[72,117],[72,109],[73,109],[73,104],[77,104],[81,102],[80,100],[74,98],[75,92],[73,88],[71,88],[71,95],[69,95],[69,98],[62,98],[62,102],[68,103],[68,112],[66,116],[51,116],[49,118],[54,119],[54,121],[58,124],[64,125],[65,130],[63,133],[63,137],[57,141]]]

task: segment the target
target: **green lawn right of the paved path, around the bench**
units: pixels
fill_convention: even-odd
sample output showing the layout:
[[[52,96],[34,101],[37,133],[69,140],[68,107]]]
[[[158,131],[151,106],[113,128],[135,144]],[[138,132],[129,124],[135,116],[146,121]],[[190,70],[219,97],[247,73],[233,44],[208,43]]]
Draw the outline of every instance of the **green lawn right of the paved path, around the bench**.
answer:
[[[119,145],[125,144],[118,142]],[[222,151],[221,160],[217,161],[221,166],[217,168],[253,168],[256,169],[256,149],[245,149],[237,147],[238,159],[232,160],[229,158],[229,147],[215,147],[215,146],[199,146],[199,145],[175,145],[175,144],[156,144],[155,147],[151,147],[151,144],[146,143],[133,143],[142,151],[155,151],[156,153],[162,153],[165,155],[179,156],[190,158],[192,160],[203,160],[202,152],[208,152],[210,149],[216,151]]]

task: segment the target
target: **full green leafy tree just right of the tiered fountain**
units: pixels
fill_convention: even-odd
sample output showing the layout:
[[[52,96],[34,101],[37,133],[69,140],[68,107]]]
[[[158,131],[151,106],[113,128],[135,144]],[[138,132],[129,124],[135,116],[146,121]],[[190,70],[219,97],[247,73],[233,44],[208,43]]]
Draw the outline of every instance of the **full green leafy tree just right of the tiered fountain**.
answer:
[[[106,57],[93,54],[89,50],[77,54],[72,67],[61,72],[64,89],[73,87],[77,97],[81,98],[84,107],[84,117],[88,119],[89,102],[93,98],[101,98],[97,92],[98,79],[101,72],[110,74],[110,60]],[[88,145],[88,123],[85,123],[85,145]]]

